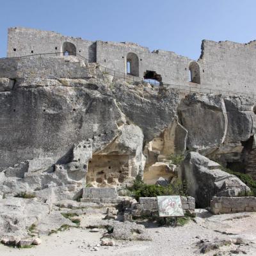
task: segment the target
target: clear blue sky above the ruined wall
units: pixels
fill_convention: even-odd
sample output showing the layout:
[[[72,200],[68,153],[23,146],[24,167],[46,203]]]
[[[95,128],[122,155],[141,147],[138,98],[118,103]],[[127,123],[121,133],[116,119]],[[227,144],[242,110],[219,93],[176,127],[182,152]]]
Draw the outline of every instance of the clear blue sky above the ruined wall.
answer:
[[[195,60],[203,39],[256,39],[255,0],[2,0],[0,10],[0,57],[15,26],[136,42]]]

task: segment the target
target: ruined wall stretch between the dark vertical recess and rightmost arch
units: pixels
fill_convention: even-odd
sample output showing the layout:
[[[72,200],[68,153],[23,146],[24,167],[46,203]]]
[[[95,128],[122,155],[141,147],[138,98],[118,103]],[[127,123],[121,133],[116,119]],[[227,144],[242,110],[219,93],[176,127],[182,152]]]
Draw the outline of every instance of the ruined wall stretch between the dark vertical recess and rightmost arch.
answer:
[[[138,56],[139,76],[147,70],[161,75],[163,83],[189,85],[189,58],[174,52],[154,51],[132,43],[115,43],[97,41],[97,61],[105,67],[118,72],[126,72],[127,54],[134,52]]]

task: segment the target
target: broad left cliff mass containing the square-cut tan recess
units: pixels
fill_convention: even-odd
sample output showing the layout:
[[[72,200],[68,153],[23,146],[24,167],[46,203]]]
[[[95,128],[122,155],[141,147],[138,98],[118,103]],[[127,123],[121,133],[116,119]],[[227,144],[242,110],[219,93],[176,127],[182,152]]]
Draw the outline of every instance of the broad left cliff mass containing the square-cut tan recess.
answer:
[[[123,186],[143,175],[143,145],[172,122],[179,95],[87,78],[1,78],[0,188],[76,198],[85,184]]]

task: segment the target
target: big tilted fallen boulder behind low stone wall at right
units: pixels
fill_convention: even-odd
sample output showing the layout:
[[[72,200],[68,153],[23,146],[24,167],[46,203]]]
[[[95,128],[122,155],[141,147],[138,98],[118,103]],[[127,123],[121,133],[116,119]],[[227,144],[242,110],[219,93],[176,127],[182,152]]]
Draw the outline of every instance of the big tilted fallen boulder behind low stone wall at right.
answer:
[[[223,172],[220,164],[189,152],[182,163],[182,175],[188,186],[188,193],[195,197],[199,207],[210,205],[212,196],[237,196],[250,191],[236,176]]]

